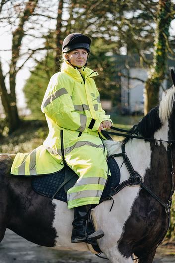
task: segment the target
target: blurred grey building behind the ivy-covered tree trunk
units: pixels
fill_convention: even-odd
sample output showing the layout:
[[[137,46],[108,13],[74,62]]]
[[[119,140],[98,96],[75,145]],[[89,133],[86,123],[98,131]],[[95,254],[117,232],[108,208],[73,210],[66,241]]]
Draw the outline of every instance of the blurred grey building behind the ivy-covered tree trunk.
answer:
[[[151,56],[148,55],[147,59],[151,60]],[[174,69],[174,61],[168,59],[168,76],[163,81],[159,99],[162,99],[162,95],[166,89],[172,86],[170,77],[170,71]],[[144,64],[143,68],[140,68],[140,59],[138,55],[133,56],[120,56],[116,59],[117,67],[121,68],[121,114],[143,114],[144,112],[144,88],[145,81],[148,78],[147,65]]]

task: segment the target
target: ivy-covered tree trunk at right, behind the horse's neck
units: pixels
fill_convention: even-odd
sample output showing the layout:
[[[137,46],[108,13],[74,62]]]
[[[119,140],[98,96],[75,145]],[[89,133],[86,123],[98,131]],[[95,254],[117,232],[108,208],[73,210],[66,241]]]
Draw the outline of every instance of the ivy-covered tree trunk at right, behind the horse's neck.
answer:
[[[171,0],[159,0],[153,65],[150,68],[149,77],[145,84],[144,114],[147,114],[159,102],[159,89],[166,73],[167,46],[171,20]]]

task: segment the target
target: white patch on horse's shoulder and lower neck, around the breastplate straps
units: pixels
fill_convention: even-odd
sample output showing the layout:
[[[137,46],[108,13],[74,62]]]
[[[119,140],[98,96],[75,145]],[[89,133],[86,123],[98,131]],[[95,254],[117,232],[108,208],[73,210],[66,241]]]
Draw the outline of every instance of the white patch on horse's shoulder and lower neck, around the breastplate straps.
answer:
[[[121,153],[119,143],[108,141],[104,142],[109,154]],[[121,145],[121,143],[120,143]],[[116,151],[114,148],[116,147]],[[143,140],[132,139],[125,145],[125,152],[133,165],[134,170],[144,178],[146,170],[150,168],[151,149],[150,143]],[[129,178],[129,172],[123,163],[122,157],[115,158],[119,167],[121,167],[121,182]],[[97,221],[98,229],[102,229],[105,236],[99,240],[101,250],[106,255],[113,255],[115,248],[115,257],[118,262],[132,262],[131,259],[124,259],[118,250],[118,240],[121,238],[124,231],[124,225],[128,217],[131,215],[132,206],[140,191],[139,186],[127,186],[119,193],[113,196],[114,205],[112,211],[109,212],[112,201],[105,201],[94,208],[92,215]],[[104,212],[105,211],[105,212]],[[106,222],[108,222],[106,224]],[[115,258],[116,260],[116,258]],[[117,261],[113,261],[117,262]]]

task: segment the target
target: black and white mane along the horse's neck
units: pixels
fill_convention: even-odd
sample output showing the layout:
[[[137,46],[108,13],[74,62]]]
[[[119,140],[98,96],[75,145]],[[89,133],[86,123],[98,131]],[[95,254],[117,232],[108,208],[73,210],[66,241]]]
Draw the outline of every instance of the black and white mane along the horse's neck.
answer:
[[[168,120],[171,115],[173,102],[175,95],[175,87],[173,86],[171,89],[166,91],[166,95],[161,100],[160,104],[155,108],[151,109],[151,111],[145,115],[142,120],[135,124],[129,131],[129,135],[143,136],[144,138],[153,137],[154,133],[158,131],[164,122]],[[129,138],[125,138],[122,143],[126,143]],[[116,143],[118,146],[121,146],[121,143],[118,142],[106,142],[107,150],[109,155],[114,154],[114,145],[116,152]]]

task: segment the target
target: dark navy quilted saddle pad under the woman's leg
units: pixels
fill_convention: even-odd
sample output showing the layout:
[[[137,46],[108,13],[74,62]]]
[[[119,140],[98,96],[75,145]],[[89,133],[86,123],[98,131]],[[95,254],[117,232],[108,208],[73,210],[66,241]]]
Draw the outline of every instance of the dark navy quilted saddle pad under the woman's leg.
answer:
[[[117,162],[110,156],[107,163],[111,176],[108,176],[100,203],[107,200],[109,193],[120,183],[120,169]],[[67,203],[67,191],[76,183],[78,178],[78,175],[65,165],[63,169],[56,173],[33,177],[32,188],[40,195]]]

